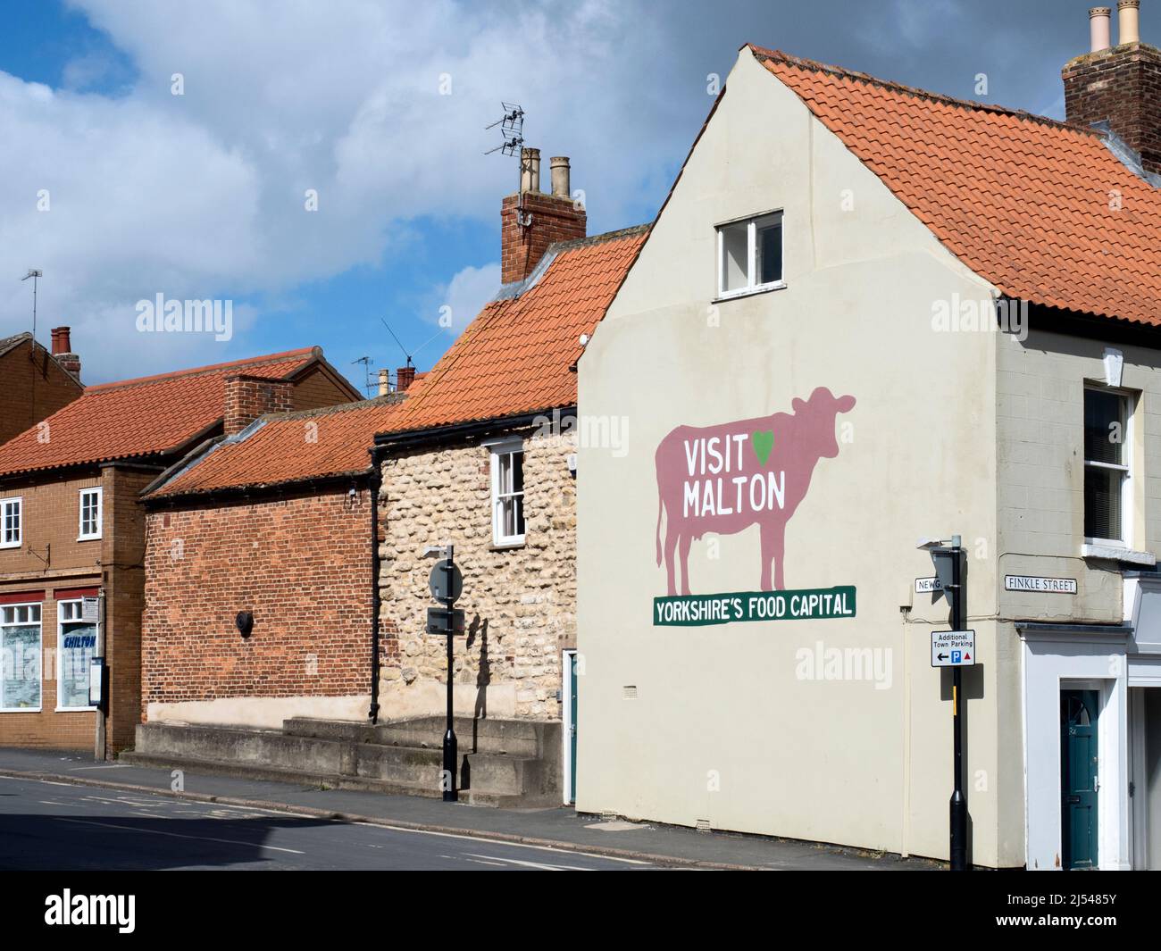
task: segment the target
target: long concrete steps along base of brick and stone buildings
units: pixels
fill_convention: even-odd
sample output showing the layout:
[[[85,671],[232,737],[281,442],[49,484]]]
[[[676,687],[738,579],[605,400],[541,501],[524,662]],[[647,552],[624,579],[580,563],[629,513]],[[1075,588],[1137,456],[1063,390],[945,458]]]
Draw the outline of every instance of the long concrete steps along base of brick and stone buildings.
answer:
[[[425,718],[427,719],[427,718]],[[431,718],[433,721],[435,718]],[[483,721],[479,721],[483,722]],[[512,721],[507,721],[512,722]],[[178,723],[140,723],[128,763],[179,769],[228,771],[245,777],[289,777],[287,781],[338,788],[380,788],[411,795],[441,795],[442,723],[439,742],[424,743],[430,725],[369,727],[365,723],[296,720],[287,729]],[[560,756],[520,756],[503,751],[474,751],[471,721],[466,720],[459,745],[460,787],[485,805],[556,805],[560,801]],[[539,725],[551,726],[551,725]],[[384,729],[387,727],[388,729]],[[394,730],[394,732],[392,732]],[[457,730],[459,733],[459,730]],[[489,747],[532,749],[536,730],[484,732]],[[557,730],[557,736],[558,736]],[[504,737],[509,739],[505,740]],[[406,740],[388,743],[384,740]],[[540,740],[536,740],[540,745]],[[361,785],[352,785],[361,784]]]

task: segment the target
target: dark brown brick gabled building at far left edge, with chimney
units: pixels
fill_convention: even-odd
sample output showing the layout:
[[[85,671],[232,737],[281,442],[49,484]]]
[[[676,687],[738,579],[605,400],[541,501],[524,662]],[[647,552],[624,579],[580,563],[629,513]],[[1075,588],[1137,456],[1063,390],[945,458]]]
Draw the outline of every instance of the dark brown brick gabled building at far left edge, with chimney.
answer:
[[[0,339],[0,444],[84,392],[80,359],[71,350],[68,327],[52,329],[52,353],[31,333]]]

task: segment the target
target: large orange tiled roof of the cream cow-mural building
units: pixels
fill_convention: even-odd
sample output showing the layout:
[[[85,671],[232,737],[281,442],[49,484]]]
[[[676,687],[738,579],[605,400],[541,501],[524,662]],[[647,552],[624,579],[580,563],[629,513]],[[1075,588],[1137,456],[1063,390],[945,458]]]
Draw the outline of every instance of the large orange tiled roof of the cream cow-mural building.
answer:
[[[1161,190],[1099,134],[750,50],[1003,294],[1161,325]]]

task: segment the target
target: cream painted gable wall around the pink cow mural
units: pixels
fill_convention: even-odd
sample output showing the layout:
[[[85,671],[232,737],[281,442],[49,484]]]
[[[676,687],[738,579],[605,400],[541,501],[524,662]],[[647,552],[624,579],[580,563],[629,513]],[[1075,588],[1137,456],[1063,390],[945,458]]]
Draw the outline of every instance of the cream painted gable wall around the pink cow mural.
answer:
[[[777,209],[786,288],[714,302],[715,225]],[[579,453],[578,808],[945,857],[950,678],[929,632],[946,607],[913,592],[931,574],[917,539],[959,532],[980,660],[965,676],[974,860],[1023,862],[1019,733],[997,720],[1018,685],[991,620],[996,341],[932,330],[954,295],[991,289],[743,50],[579,362],[582,419],[629,439]],[[654,626],[661,440],[789,412],[816,387],[857,404],[788,521],[786,588],[854,585],[857,617]],[[757,590],[758,528],[694,541],[688,564],[693,593]],[[835,650],[877,672],[812,673]]]

